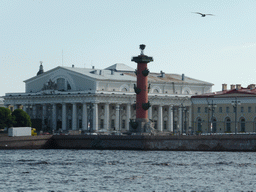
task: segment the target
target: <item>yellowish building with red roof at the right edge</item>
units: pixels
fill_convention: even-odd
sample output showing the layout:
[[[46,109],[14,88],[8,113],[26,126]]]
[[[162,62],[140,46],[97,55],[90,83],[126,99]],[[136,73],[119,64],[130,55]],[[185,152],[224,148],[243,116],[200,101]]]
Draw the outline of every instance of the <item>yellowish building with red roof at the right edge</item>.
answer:
[[[193,127],[203,133],[239,133],[256,131],[256,88],[240,84],[222,85],[219,92],[191,98]]]

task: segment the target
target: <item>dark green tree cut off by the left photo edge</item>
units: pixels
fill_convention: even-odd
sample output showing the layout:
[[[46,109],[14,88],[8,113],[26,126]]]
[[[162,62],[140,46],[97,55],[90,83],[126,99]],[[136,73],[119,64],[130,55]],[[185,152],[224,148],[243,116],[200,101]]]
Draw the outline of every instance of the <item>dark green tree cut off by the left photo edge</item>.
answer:
[[[11,115],[12,112],[10,109],[5,107],[0,107],[0,129],[5,127],[12,127],[14,124],[14,117]]]

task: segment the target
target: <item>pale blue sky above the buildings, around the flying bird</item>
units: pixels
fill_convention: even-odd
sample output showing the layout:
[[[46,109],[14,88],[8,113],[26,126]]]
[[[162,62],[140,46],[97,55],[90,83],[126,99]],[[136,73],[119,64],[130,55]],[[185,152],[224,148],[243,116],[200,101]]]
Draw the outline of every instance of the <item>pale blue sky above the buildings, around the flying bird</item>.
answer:
[[[247,87],[255,82],[255,0],[2,0],[0,96],[57,66],[103,69],[144,53],[151,72]],[[194,12],[214,14],[201,17]]]

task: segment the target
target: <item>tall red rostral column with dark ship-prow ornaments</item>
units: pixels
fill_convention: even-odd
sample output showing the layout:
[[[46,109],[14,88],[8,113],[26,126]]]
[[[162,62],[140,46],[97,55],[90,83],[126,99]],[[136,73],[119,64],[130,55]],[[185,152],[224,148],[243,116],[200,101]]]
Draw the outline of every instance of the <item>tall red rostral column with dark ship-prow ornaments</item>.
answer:
[[[148,102],[148,74],[149,70],[147,64],[153,61],[153,57],[144,55],[143,50],[146,45],[140,45],[141,54],[138,57],[133,57],[132,61],[137,63],[137,86],[134,85],[134,91],[136,93],[136,122],[138,125],[138,132],[144,132],[144,125],[148,120],[148,108],[150,103]]]

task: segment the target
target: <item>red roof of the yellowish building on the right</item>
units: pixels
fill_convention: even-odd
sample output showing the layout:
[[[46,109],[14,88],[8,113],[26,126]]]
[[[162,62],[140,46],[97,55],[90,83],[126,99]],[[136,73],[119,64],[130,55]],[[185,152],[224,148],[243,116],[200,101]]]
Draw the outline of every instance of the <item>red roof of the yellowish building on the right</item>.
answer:
[[[202,95],[193,95],[191,98],[216,98],[216,97],[234,97],[235,96],[255,96],[256,95],[256,88],[248,87],[241,87],[239,89],[234,88],[230,90],[222,90],[217,92],[205,93]]]

